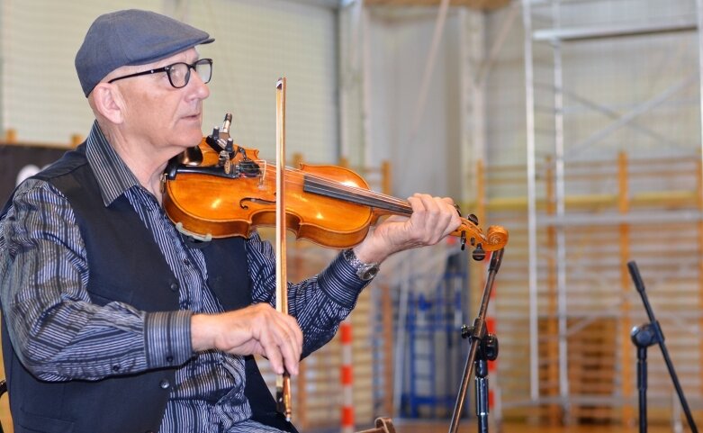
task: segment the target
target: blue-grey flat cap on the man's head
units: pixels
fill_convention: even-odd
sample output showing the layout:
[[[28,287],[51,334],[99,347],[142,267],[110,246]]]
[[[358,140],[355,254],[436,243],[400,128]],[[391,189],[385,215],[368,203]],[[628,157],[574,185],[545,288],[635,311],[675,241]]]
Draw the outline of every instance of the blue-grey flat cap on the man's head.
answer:
[[[116,68],[166,59],[212,41],[208,33],[155,12],[130,9],[100,15],[76,54],[78,79],[87,97]]]

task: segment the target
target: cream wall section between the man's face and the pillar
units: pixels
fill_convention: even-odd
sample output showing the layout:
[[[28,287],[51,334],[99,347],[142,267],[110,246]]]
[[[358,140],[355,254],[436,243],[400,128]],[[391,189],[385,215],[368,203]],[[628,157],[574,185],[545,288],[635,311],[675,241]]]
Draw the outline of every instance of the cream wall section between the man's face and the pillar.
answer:
[[[216,62],[203,128],[232,112],[235,141],[274,158],[275,83],[286,77],[286,149],[312,162],[337,160],[334,10],[284,0],[210,0],[191,2],[187,16],[216,40],[201,49]]]

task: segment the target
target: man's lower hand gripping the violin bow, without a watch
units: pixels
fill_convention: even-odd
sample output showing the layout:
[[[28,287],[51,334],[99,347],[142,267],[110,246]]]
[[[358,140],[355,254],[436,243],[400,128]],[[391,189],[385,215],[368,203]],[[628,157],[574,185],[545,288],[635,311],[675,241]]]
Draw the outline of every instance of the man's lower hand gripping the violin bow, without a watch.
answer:
[[[302,331],[292,316],[267,303],[220,314],[194,314],[191,341],[196,352],[217,349],[234,355],[266,356],[276,374],[298,374]]]

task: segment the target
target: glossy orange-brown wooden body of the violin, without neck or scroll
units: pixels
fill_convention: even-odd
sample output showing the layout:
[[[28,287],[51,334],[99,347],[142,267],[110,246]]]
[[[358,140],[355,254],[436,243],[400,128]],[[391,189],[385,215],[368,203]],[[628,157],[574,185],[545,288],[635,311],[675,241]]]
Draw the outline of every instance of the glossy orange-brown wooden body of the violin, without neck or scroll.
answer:
[[[203,149],[205,164],[212,153]],[[257,158],[257,151],[247,150],[247,154]],[[198,235],[248,237],[257,227],[275,224],[275,173],[268,168],[262,173],[236,179],[179,173],[175,181],[166,184],[167,214],[173,221],[182,222],[185,230]],[[368,207],[334,198],[319,196],[311,200],[310,194],[303,191],[306,175],[368,187],[364,179],[343,167],[303,165],[300,172],[286,173],[291,178],[285,191],[288,229],[300,239],[330,248],[361,242],[378,215]]]

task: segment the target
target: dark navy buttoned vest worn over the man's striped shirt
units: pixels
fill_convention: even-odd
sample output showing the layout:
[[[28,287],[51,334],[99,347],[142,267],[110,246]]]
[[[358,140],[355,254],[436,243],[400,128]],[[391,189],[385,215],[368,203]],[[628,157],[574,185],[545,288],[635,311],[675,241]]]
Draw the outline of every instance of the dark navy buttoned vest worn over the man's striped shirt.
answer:
[[[68,152],[36,178],[66,195],[86,243],[87,290],[92,302],[127,302],[143,311],[178,309],[178,282],[123,195],[108,207],[87,164],[85,143]],[[5,205],[5,214],[9,203]],[[213,240],[203,248],[208,284],[225,310],[251,303],[244,239]],[[3,356],[15,433],[141,433],[155,432],[166,410],[176,368],[143,374],[115,375],[99,381],[45,382],[19,361],[3,318]],[[247,357],[245,393],[254,419],[295,431],[266,388],[253,356]]]

